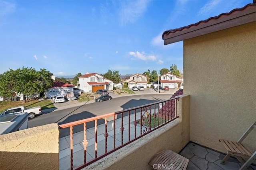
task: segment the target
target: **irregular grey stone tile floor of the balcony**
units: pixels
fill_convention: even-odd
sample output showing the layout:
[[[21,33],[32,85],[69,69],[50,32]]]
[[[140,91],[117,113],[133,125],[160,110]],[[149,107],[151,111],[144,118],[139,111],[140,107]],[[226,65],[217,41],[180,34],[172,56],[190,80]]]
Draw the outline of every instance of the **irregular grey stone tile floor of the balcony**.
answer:
[[[220,164],[225,154],[205,148],[193,142],[189,142],[183,148],[180,155],[188,158],[187,170],[239,170],[242,164],[236,159],[230,157],[225,165]],[[256,170],[255,166],[251,166]]]

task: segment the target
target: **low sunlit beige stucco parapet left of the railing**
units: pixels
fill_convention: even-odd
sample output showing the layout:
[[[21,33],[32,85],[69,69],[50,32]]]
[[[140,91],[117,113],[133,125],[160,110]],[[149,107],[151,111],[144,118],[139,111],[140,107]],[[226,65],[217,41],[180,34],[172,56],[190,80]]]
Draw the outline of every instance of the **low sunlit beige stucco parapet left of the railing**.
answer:
[[[0,160],[1,170],[58,170],[58,124],[0,135]]]

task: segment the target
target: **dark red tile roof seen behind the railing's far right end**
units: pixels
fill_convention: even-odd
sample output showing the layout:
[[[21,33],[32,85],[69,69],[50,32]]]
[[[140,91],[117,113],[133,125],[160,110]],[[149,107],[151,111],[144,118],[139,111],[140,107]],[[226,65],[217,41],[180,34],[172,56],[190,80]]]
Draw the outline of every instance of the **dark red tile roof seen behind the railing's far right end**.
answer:
[[[183,89],[179,89],[177,90],[171,98],[175,98],[176,96],[180,96],[183,94]],[[169,114],[169,118],[174,118],[175,116],[175,101],[174,100],[170,100],[168,102],[166,102],[162,108],[159,109],[159,114],[162,116],[168,117]]]

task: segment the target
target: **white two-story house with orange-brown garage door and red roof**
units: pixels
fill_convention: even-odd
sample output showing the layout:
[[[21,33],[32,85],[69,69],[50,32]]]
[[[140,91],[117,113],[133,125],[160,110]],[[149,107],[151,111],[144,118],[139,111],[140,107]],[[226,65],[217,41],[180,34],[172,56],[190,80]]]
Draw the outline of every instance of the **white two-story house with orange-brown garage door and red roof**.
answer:
[[[98,73],[86,73],[78,77],[78,88],[83,92],[96,92],[99,89],[113,90],[113,83]]]

